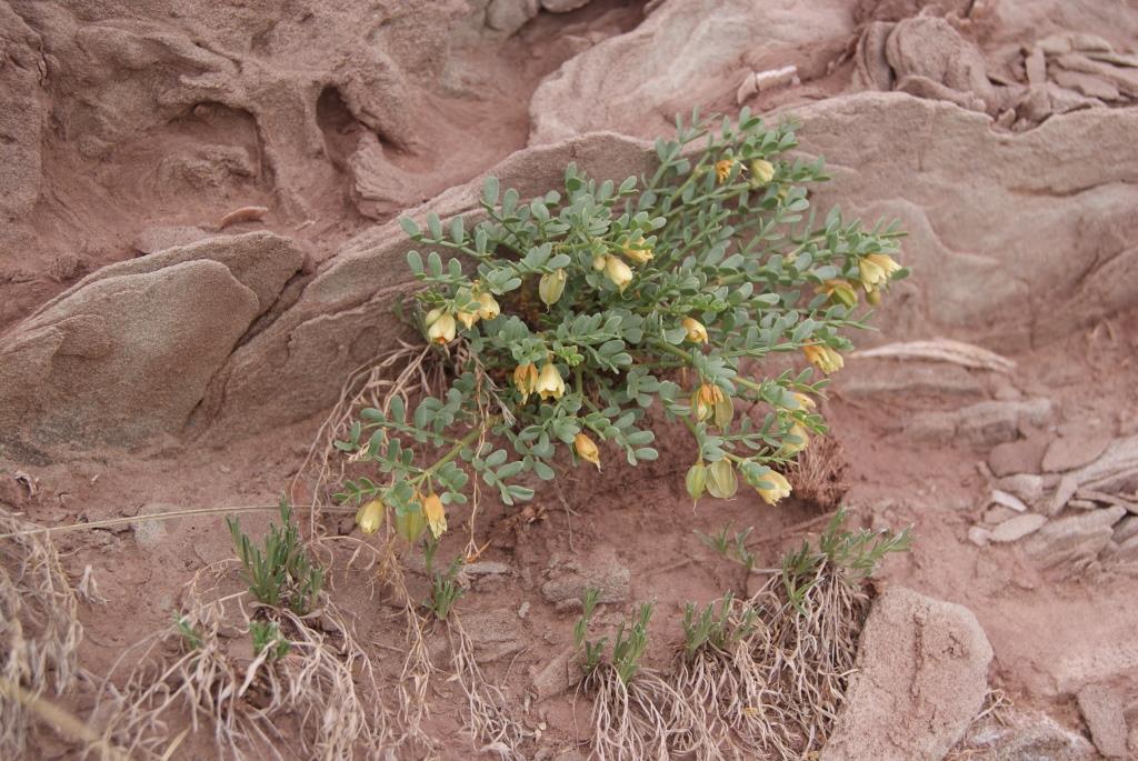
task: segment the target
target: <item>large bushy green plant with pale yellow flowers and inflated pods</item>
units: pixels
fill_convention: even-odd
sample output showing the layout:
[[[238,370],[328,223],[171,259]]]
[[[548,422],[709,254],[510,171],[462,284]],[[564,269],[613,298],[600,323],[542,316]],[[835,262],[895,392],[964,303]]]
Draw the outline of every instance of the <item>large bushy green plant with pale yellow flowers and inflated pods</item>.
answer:
[[[534,495],[527,475],[555,477],[562,448],[596,466],[601,442],[654,460],[657,405],[693,436],[693,498],[731,497],[740,477],[770,504],[789,494],[780,470],[825,431],[814,397],[826,381],[753,363],[800,354],[839,370],[844,332],[865,326],[859,293],[876,304],[905,274],[901,233],[836,209],[817,223],[802,185],[827,177],[820,160],[786,157],[789,122],[744,109],[737,124],[693,114],[677,130],[640,180],[596,182],[570,164],[563,192],[523,202],[489,177],[477,215],[402,220],[424,249],[407,255],[423,284],[414,321],[453,382],[418,402],[393,394],[337,441],[382,477],[338,495],[361,505],[365,532],[391,512],[409,540],[439,536],[472,488],[460,463],[513,504]],[[766,414],[736,416],[736,404]]]

